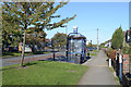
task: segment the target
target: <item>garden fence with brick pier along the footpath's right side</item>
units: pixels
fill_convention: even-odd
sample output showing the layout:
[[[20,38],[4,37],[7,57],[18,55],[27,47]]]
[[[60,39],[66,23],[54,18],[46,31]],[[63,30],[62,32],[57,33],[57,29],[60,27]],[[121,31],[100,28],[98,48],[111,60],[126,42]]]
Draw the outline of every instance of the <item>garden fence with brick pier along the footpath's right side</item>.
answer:
[[[120,84],[123,86],[131,86],[131,64],[129,54],[122,54],[118,51],[103,49],[105,53],[111,59],[111,65],[119,77]],[[114,52],[115,55],[114,55]]]

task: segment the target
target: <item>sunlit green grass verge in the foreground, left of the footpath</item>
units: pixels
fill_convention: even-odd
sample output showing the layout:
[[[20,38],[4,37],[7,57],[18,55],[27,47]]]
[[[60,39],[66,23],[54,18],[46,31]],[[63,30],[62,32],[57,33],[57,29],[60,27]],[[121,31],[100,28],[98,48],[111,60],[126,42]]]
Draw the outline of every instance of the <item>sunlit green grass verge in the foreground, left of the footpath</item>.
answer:
[[[34,61],[25,69],[11,67],[3,67],[2,85],[76,85],[88,69],[53,61]]]

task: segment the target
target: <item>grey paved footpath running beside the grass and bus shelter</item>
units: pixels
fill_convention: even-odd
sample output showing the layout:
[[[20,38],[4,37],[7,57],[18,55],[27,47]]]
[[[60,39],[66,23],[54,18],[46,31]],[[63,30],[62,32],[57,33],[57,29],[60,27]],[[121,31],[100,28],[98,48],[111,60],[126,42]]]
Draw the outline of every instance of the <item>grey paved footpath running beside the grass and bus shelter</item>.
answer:
[[[90,69],[79,85],[118,85],[114,79],[114,73],[108,67],[107,59],[107,55],[100,50],[96,57],[85,62],[83,65],[87,65]]]

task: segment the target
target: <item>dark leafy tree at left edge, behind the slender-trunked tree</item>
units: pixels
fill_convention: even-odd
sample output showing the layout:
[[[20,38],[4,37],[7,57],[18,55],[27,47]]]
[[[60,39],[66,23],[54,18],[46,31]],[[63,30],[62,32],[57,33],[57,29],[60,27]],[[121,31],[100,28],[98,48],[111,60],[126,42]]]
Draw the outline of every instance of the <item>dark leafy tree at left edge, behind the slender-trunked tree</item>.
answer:
[[[14,25],[14,23],[9,23],[7,17],[2,20],[2,48],[4,46],[19,46],[19,42],[22,40],[22,32],[17,28],[19,26]]]

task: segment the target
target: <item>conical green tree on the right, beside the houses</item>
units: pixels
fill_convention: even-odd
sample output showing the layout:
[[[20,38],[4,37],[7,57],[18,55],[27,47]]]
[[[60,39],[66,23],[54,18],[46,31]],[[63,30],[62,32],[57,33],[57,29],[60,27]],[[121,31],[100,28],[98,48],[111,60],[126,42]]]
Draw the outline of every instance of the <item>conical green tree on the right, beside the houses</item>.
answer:
[[[114,49],[121,49],[122,48],[122,44],[123,44],[123,32],[121,29],[121,27],[119,27],[118,29],[116,29],[116,32],[112,35],[111,38],[111,46]]]

